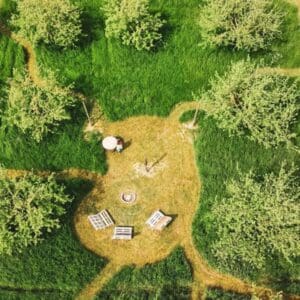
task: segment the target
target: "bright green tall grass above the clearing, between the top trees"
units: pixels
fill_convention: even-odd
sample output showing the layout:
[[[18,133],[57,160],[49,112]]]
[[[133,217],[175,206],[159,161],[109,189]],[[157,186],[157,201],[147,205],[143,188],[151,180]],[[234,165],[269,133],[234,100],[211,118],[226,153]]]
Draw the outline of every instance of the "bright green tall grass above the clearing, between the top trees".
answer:
[[[151,1],[151,9],[162,12],[168,25],[164,45],[150,53],[105,38],[100,9],[103,0],[75,2],[88,20],[85,28],[90,39],[67,51],[41,45],[38,59],[41,65],[57,70],[66,82],[75,82],[78,90],[96,98],[112,120],[140,114],[166,116],[176,103],[190,100],[193,91],[206,89],[216,71],[222,73],[231,61],[247,56],[232,49],[199,46],[199,0]],[[274,51],[259,52],[253,58],[271,61],[277,53],[283,56],[282,64],[300,66],[297,12],[283,1],[279,4],[287,11],[283,38]]]

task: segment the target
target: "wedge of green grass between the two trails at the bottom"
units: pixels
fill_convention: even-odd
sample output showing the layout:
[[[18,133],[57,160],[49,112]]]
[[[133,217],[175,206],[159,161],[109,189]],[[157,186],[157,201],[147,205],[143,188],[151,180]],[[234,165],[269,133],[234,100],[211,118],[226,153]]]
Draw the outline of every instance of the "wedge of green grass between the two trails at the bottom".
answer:
[[[125,267],[97,299],[190,299],[191,268],[181,248],[141,269]]]

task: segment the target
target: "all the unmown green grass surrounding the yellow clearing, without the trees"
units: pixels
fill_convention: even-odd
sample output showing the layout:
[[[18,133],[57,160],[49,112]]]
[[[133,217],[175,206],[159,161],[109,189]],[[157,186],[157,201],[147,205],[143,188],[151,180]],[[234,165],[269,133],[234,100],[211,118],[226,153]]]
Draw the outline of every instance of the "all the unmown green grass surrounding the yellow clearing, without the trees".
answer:
[[[154,15],[156,11],[161,12],[162,18],[167,20],[167,24],[161,28],[164,43],[156,52],[136,51],[133,47],[124,47],[114,39],[105,38],[105,18],[100,9],[104,0],[73,2],[82,10],[82,30],[85,35],[80,39],[78,48],[64,51],[43,43],[36,45],[40,69],[41,72],[45,69],[55,70],[58,81],[65,86],[74,82],[75,89],[96,99],[111,120],[141,114],[166,116],[176,103],[190,100],[192,91],[201,89],[205,92],[216,71],[222,76],[232,62],[247,57],[245,52],[232,52],[228,47],[199,47],[201,35],[197,26],[198,0],[151,2],[149,11]],[[271,61],[275,54],[279,54],[282,55],[278,61],[281,65],[297,67],[300,65],[297,13],[283,1],[278,1],[278,5],[287,12],[282,24],[281,40],[270,47],[269,53],[257,51],[255,55],[252,54],[251,59],[259,61],[264,58]],[[6,23],[9,12],[13,10],[13,2],[5,1],[1,17]],[[273,37],[275,35],[272,33],[264,41],[264,45],[269,47],[269,41]],[[54,40],[52,42],[59,44]],[[245,45],[243,48],[246,48]],[[20,70],[23,68],[24,53],[20,46],[2,35],[0,50],[0,79],[1,86],[4,86],[8,77],[12,76],[14,67]],[[62,170],[76,167],[104,173],[105,156],[99,141],[92,139],[87,142],[83,138],[85,117],[82,108],[79,105],[73,107],[70,115],[70,120],[65,120],[60,128],[45,137],[40,144],[21,134],[16,128],[1,126],[1,163],[5,167],[18,169]],[[243,173],[253,169],[256,174],[278,174],[283,160],[298,164],[299,157],[282,145],[276,149],[265,149],[246,137],[229,136],[226,131],[217,127],[212,118],[204,118],[202,115],[200,119],[201,131],[195,147],[203,185],[193,235],[199,251],[209,263],[228,272],[216,260],[212,251],[212,245],[220,238],[212,208],[226,198],[226,182],[239,180],[237,166]],[[294,131],[299,133],[300,128],[295,125]],[[296,143],[299,146],[299,138],[296,138]],[[72,181],[69,182],[69,190],[77,195],[82,190],[88,190],[88,187],[86,183]],[[78,196],[77,199],[80,201],[81,197]],[[11,287],[12,290],[24,289],[23,294],[1,291],[0,297],[2,294],[6,299],[23,295],[23,299],[34,299],[49,295],[49,298],[68,299],[74,297],[99,273],[104,261],[84,250],[74,237],[71,220],[75,206],[73,203],[66,208],[68,214],[63,217],[62,227],[46,234],[45,240],[36,247],[28,248],[13,257],[0,256],[0,285]],[[169,295],[170,299],[176,299],[178,295],[183,299],[188,298],[191,272],[179,252],[141,270],[132,267],[124,269],[107,285],[99,298],[108,298],[109,295],[123,299],[165,299]],[[246,266],[235,267],[231,273],[256,283],[299,293],[297,270],[299,260],[293,259],[292,264],[287,264],[280,255],[270,253],[264,268],[258,270]],[[31,293],[26,289],[36,291]]]

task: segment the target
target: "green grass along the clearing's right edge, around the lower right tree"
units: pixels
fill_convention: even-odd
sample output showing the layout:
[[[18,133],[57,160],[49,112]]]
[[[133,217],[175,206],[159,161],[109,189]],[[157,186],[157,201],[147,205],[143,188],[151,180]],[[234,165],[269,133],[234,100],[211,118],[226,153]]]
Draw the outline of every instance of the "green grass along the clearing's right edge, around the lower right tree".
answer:
[[[257,269],[253,268],[252,265],[245,264],[239,264],[237,267],[236,264],[232,264],[230,270],[216,259],[213,245],[218,242],[221,236],[218,233],[220,225],[213,213],[213,207],[222,205],[222,199],[226,198],[226,182],[240,180],[237,167],[243,173],[253,170],[256,174],[271,172],[278,174],[283,161],[298,165],[300,162],[299,155],[283,146],[277,149],[266,149],[246,137],[230,137],[226,131],[218,129],[212,118],[204,118],[203,114],[199,126],[201,131],[195,147],[198,153],[198,165],[203,185],[200,207],[193,224],[193,237],[199,251],[213,267],[225,273],[230,272],[235,276],[256,281],[258,284],[264,281],[264,284],[274,288],[285,291],[292,291],[293,289],[295,292],[295,280],[299,272],[297,258],[292,259],[292,263],[286,263],[282,255],[273,252],[265,257],[266,261],[262,268]],[[238,213],[234,207],[228,206],[227,209],[232,209],[232,213]],[[246,216],[248,210],[239,213],[244,213]],[[251,222],[251,219],[245,217],[245,222],[248,221]],[[273,221],[269,220],[270,224]],[[246,243],[241,240],[238,242],[241,244],[237,245],[236,251],[241,251],[243,247],[246,247]],[[251,257],[251,255],[255,256],[256,254],[248,253],[248,255]]]

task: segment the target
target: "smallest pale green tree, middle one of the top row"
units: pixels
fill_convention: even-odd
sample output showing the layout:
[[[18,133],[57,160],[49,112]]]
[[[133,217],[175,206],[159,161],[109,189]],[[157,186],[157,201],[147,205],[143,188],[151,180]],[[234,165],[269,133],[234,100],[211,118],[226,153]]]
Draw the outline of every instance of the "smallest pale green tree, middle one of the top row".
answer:
[[[138,50],[151,50],[162,38],[165,21],[160,14],[150,14],[149,0],[107,0],[103,11],[105,35]]]

